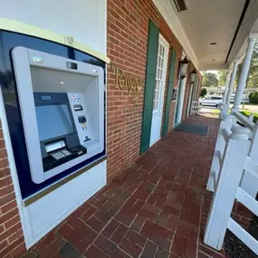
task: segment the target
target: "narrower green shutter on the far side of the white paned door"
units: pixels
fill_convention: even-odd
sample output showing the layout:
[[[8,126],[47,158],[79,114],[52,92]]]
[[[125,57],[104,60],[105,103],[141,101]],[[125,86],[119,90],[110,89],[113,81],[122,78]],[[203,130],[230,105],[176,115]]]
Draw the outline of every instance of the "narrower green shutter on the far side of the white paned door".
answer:
[[[166,100],[165,117],[164,117],[164,123],[163,123],[163,132],[162,132],[163,137],[167,134],[167,129],[168,129],[170,104],[171,104],[173,86],[174,86],[173,84],[174,84],[176,59],[177,59],[177,52],[173,48],[171,59],[170,59],[169,79],[168,79],[168,85],[167,85],[167,100]]]

